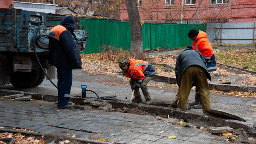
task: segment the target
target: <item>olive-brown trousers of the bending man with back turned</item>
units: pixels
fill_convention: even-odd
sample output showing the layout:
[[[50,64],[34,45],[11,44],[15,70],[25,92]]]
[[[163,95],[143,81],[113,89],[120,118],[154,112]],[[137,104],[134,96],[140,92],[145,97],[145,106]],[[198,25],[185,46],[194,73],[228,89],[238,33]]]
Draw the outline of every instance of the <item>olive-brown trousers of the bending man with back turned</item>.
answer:
[[[211,108],[210,88],[208,86],[208,81],[206,79],[204,69],[198,65],[191,65],[187,67],[181,75],[178,93],[178,108],[187,108],[188,95],[191,91],[191,85],[193,81],[195,82],[196,88],[198,88],[198,93],[202,99],[203,112],[205,112],[205,109]]]

